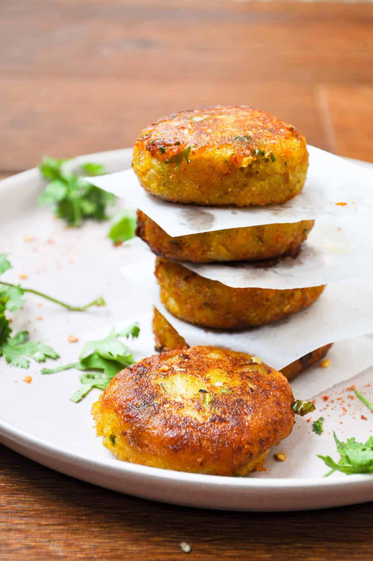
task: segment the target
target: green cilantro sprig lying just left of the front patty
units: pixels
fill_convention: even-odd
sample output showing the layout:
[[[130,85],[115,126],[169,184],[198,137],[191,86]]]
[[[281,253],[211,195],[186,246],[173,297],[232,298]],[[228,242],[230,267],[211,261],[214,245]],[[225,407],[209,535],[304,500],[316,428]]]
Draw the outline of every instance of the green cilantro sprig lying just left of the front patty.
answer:
[[[43,368],[42,374],[55,374],[71,368],[84,371],[95,370],[95,372],[87,372],[80,376],[81,385],[70,397],[70,401],[78,403],[87,396],[92,388],[105,389],[113,376],[134,364],[132,353],[126,344],[120,341],[120,337],[137,338],[139,333],[140,328],[137,323],[119,333],[112,329],[104,339],[85,343],[78,361],[53,369]]]

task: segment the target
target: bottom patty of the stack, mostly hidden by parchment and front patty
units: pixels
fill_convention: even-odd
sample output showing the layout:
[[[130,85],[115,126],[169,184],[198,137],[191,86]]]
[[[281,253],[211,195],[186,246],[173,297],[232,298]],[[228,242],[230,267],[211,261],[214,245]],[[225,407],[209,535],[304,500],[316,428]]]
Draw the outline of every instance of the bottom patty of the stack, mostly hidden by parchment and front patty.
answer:
[[[165,316],[161,314],[156,307],[154,307],[153,314],[153,333],[156,342],[156,351],[172,351],[174,349],[187,349],[189,348],[188,343],[186,343],[184,337],[176,331],[173,325],[166,320]],[[315,351],[307,353],[307,355],[294,360],[288,366],[281,368],[281,374],[284,374],[288,380],[293,380],[295,376],[301,374],[303,370],[315,364],[315,362],[321,360],[326,356],[330,347],[333,343],[324,345],[324,347],[319,347]]]

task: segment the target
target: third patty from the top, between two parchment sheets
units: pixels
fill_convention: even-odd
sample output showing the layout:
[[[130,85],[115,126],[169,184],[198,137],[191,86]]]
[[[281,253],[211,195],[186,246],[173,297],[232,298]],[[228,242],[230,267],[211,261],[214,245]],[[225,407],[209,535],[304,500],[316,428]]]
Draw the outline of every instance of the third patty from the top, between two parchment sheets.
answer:
[[[241,329],[278,321],[313,304],[325,288],[232,288],[161,257],[156,259],[155,274],[161,301],[171,314],[215,329]]]

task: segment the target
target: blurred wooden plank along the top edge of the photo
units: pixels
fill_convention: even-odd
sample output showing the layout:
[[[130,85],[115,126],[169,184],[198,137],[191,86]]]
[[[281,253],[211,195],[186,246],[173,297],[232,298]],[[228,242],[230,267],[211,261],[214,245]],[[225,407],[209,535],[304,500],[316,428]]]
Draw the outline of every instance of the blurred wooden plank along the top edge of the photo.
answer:
[[[2,1],[0,70],[367,83],[373,6],[313,2]],[[15,41],[16,36],[16,41]]]

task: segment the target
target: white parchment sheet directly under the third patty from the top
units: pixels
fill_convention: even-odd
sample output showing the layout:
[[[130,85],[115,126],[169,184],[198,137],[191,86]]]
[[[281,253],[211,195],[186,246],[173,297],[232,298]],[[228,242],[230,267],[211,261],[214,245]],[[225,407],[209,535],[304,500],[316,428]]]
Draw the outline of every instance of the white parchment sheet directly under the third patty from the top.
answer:
[[[329,284],[306,310],[259,328],[221,332],[203,329],[172,316],[161,304],[154,262],[120,269],[134,300],[152,302],[190,346],[216,345],[248,352],[280,370],[327,343],[373,332],[373,291],[366,280]]]

